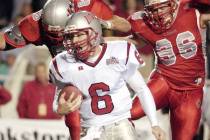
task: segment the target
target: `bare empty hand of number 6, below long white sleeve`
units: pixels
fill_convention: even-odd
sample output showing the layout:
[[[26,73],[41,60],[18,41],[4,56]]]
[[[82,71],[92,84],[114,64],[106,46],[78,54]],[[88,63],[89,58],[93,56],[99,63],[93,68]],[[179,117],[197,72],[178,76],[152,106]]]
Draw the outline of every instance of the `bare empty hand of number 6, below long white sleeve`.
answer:
[[[156,140],[166,140],[165,132],[159,126],[152,127],[152,134],[155,136]]]

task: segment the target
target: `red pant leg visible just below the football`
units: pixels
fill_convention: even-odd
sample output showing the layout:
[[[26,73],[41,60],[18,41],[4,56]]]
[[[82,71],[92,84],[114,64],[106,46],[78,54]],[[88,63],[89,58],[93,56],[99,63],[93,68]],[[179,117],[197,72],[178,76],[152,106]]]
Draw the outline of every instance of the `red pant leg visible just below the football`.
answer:
[[[80,114],[79,110],[65,115],[65,123],[69,128],[71,140],[80,140]]]

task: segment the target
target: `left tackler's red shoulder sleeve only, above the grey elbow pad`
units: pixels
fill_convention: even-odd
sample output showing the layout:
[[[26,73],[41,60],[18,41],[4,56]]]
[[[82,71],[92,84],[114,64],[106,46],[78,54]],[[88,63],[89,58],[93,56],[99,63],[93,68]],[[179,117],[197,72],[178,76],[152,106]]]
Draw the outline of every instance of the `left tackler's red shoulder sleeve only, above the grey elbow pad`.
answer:
[[[22,36],[29,43],[37,42],[40,39],[40,18],[41,11],[38,11],[29,16],[26,16],[18,24]]]

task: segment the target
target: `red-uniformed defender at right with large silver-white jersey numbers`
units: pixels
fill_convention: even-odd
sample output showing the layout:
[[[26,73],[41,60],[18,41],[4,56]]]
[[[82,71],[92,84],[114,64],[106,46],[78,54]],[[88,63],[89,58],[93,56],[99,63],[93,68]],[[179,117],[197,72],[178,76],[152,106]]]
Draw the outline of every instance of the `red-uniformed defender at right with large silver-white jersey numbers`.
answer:
[[[173,140],[192,140],[201,117],[205,79],[200,15],[189,1],[145,0],[145,11],[129,17],[132,31],[153,46],[156,68],[148,86],[157,108],[169,107]],[[133,118],[144,115],[132,110]],[[137,114],[136,114],[137,113]]]

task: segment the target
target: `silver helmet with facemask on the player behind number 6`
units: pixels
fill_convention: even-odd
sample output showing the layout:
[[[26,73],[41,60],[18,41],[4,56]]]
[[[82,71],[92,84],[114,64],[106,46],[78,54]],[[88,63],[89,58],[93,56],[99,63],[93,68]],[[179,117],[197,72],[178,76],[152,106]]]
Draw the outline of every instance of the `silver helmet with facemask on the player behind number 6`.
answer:
[[[42,9],[42,25],[52,41],[62,41],[62,31],[71,14],[69,0],[48,0]]]

